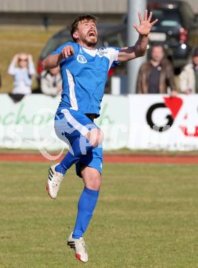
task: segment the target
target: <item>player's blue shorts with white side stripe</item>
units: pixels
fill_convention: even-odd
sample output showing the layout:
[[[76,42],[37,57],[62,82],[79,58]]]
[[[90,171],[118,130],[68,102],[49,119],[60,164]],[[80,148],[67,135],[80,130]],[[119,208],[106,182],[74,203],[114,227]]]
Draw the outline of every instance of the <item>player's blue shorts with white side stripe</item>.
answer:
[[[91,129],[99,129],[84,113],[71,109],[62,109],[61,112],[56,113],[54,128],[56,135],[69,146],[77,137],[85,136]],[[76,174],[79,177],[82,177],[81,170],[83,166],[90,166],[101,173],[103,166],[101,144],[90,150],[86,155],[82,155],[75,166]]]

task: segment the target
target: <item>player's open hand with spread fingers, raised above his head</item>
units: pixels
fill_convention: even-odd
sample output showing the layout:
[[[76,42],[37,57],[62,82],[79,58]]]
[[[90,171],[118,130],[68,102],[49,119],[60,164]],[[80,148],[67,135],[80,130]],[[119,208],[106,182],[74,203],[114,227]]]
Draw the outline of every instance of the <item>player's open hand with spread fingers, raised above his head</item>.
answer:
[[[143,19],[141,12],[138,12],[140,25],[138,26],[138,25],[134,24],[133,26],[139,34],[147,36],[149,34],[149,32],[151,32],[151,27],[153,27],[153,25],[155,25],[158,22],[158,19],[151,22],[152,16],[153,16],[153,12],[150,12],[149,18],[148,18],[148,10],[146,10],[145,16]]]

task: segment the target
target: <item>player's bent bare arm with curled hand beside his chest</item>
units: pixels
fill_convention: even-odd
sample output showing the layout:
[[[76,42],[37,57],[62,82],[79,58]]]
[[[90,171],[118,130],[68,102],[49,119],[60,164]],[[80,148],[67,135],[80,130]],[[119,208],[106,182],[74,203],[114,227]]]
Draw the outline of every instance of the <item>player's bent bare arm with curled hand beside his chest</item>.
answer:
[[[43,69],[53,69],[60,65],[60,62],[65,58],[69,58],[74,54],[74,49],[72,45],[66,45],[62,52],[49,55],[44,60],[42,60]]]

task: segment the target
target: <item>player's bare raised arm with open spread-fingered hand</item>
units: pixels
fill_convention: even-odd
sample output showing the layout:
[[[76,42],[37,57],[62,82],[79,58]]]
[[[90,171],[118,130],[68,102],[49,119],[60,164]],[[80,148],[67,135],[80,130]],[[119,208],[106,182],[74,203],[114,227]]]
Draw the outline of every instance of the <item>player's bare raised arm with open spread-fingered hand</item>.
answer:
[[[141,13],[138,12],[140,25],[133,25],[136,31],[139,33],[138,41],[133,47],[121,48],[121,50],[119,51],[119,61],[133,60],[134,58],[138,58],[145,55],[145,52],[147,51],[149,32],[151,31],[151,27],[153,27],[153,25],[155,25],[158,21],[158,19],[156,19],[155,21],[151,22],[152,15],[152,12],[150,12],[148,17],[148,11],[146,10],[143,19]]]

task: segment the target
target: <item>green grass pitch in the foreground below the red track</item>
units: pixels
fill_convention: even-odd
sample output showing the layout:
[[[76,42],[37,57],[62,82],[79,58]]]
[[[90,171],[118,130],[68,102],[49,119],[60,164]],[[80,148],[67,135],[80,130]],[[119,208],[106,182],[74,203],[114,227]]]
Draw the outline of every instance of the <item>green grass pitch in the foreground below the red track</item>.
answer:
[[[0,267],[198,267],[196,165],[105,164],[86,265],[66,247],[83,188],[74,170],[53,201],[49,164],[0,166]]]

